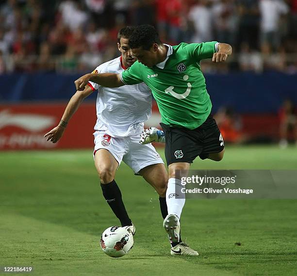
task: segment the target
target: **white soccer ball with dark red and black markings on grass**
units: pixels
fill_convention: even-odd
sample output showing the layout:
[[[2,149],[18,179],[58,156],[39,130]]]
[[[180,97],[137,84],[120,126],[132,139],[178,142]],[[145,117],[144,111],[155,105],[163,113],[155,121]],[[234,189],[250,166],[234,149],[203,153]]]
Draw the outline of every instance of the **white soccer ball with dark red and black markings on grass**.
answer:
[[[127,254],[133,247],[133,244],[132,234],[123,227],[109,227],[101,235],[100,246],[103,252],[113,258]]]

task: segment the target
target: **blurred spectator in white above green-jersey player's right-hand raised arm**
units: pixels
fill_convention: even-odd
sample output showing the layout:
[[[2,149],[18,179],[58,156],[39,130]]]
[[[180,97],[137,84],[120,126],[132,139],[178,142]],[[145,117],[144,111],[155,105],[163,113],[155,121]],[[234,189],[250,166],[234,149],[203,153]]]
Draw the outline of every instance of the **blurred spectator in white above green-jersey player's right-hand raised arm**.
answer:
[[[194,27],[193,43],[213,41],[212,10],[210,0],[198,0],[189,12],[189,19]]]

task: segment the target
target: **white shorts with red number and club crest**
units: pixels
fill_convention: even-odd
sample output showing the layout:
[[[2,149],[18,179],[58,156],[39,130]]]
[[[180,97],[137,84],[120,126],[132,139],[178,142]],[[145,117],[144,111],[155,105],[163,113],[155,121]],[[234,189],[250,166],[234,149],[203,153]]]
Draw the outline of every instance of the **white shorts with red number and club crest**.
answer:
[[[135,173],[149,165],[164,164],[151,144],[139,143],[140,135],[114,138],[104,131],[96,131],[94,137],[94,155],[99,149],[106,149],[115,157],[118,165],[123,160]]]

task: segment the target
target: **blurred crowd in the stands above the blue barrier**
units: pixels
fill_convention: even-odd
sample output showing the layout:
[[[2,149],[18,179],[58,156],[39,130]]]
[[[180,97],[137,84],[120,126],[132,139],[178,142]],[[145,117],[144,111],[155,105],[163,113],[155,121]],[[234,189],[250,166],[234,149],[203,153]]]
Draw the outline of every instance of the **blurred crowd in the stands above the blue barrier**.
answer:
[[[93,70],[138,24],[171,45],[231,44],[231,61],[204,72],[297,72],[297,0],[0,0],[0,22],[0,73]]]

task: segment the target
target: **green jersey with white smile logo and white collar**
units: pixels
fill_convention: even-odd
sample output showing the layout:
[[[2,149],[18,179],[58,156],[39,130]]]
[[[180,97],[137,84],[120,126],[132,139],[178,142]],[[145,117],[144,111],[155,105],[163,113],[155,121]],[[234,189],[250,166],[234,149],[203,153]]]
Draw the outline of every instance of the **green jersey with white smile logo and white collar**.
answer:
[[[201,59],[217,52],[216,41],[168,46],[165,61],[148,68],[136,61],[121,72],[126,85],[144,82],[151,89],[161,113],[170,126],[195,129],[209,116],[212,103],[201,72]]]

